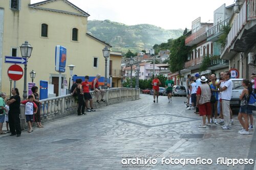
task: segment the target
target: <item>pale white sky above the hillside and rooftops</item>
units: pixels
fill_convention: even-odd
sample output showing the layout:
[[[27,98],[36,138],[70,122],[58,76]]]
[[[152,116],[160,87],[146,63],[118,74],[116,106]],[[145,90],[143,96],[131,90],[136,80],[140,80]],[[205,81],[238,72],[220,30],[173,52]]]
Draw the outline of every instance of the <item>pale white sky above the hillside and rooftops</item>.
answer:
[[[68,0],[90,14],[88,20],[109,19],[125,25],[151,24],[166,30],[191,29],[193,20],[213,22],[214,11],[234,0]],[[41,2],[31,0],[31,4]]]

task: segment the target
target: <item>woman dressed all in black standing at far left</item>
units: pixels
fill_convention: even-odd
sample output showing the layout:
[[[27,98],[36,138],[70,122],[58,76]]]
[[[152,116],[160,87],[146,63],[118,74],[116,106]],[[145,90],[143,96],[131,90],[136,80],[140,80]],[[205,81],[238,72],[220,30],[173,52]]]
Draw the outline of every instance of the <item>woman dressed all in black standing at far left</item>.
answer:
[[[20,128],[20,119],[19,119],[20,97],[19,97],[19,92],[17,88],[12,89],[12,96],[10,100],[7,101],[7,104],[9,105],[8,118],[9,118],[9,126],[11,131],[10,136],[16,135],[17,137],[19,137],[20,134],[22,134],[22,129]]]

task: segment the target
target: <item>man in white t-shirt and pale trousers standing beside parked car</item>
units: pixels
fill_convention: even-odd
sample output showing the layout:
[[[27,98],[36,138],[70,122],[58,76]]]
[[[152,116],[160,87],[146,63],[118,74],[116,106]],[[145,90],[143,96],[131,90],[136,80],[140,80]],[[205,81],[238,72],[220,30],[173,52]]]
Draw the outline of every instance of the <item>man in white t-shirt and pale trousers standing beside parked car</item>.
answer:
[[[224,78],[225,82],[221,87],[221,102],[222,102],[222,112],[224,116],[225,125],[222,127],[223,130],[231,129],[231,121],[230,121],[230,100],[232,96],[232,81],[230,80],[230,72],[225,71]]]

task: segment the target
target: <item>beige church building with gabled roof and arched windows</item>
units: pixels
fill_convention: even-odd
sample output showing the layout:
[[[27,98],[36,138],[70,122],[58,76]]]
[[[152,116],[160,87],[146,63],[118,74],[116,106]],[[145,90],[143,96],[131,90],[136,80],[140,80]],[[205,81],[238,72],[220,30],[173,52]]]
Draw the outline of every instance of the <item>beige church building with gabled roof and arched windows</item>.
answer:
[[[12,63],[5,63],[5,56],[22,57],[20,48],[25,41],[33,47],[27,63],[27,82],[31,82],[29,72],[34,70],[34,82],[54,84],[54,93],[58,95],[59,73],[55,71],[55,47],[67,48],[66,71],[62,73],[61,83],[69,80],[68,65],[75,65],[73,75],[91,77],[105,75],[105,59],[102,49],[112,46],[87,33],[87,21],[90,15],[67,0],[48,0],[30,4],[30,0],[0,1],[0,90],[10,91],[7,74]],[[113,62],[121,67],[121,55]],[[120,64],[119,64],[120,60]],[[20,64],[24,69],[24,65]],[[108,74],[110,75],[110,57],[108,58]],[[115,80],[120,84],[120,79]],[[119,83],[118,83],[119,82]],[[15,82],[22,93],[24,76]],[[63,88],[63,87],[61,87]],[[22,96],[22,94],[20,94]]]

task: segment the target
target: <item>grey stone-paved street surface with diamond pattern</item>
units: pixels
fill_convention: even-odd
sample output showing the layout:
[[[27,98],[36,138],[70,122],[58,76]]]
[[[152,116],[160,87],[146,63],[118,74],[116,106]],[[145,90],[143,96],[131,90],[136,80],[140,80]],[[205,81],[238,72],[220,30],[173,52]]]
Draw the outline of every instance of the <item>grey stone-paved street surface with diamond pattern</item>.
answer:
[[[152,95],[141,94],[140,100],[54,120],[45,128],[35,127],[32,133],[23,131],[21,137],[0,135],[0,170],[254,168],[254,164],[217,164],[219,157],[255,161],[254,130],[250,135],[238,134],[241,126],[237,116],[231,130],[214,124],[198,128],[202,118],[194,110],[186,110],[184,101],[174,97],[168,104],[167,97],[160,96],[159,103],[153,103]],[[166,162],[161,164],[164,157]],[[188,165],[172,165],[168,164],[170,157],[208,159],[212,163],[190,165],[188,161]],[[150,167],[136,167],[130,162],[125,167],[121,162],[127,159],[156,164],[144,162]]]

